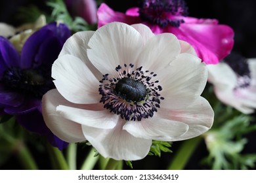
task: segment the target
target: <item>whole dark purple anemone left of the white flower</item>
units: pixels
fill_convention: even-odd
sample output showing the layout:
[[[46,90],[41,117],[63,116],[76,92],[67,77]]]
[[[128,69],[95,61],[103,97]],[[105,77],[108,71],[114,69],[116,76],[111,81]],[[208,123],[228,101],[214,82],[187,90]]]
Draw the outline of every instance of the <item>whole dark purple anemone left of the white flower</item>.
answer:
[[[66,142],[54,137],[41,114],[41,98],[54,88],[51,78],[53,61],[70,37],[64,24],[51,23],[36,31],[25,42],[21,55],[8,39],[0,37],[0,110],[15,115],[26,129],[47,135],[62,148]]]

